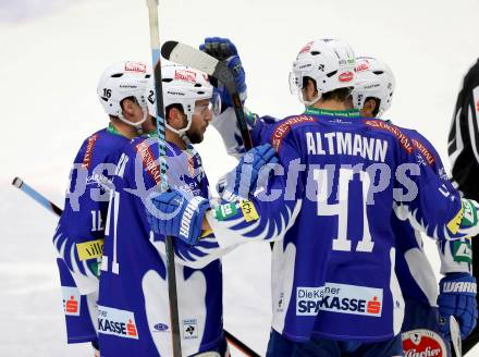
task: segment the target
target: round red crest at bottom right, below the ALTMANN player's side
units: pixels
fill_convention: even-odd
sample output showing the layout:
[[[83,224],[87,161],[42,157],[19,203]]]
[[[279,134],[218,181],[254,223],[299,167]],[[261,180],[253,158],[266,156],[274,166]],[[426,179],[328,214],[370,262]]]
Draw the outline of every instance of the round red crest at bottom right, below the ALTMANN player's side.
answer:
[[[405,357],[446,357],[444,340],[434,331],[419,329],[402,333]]]

